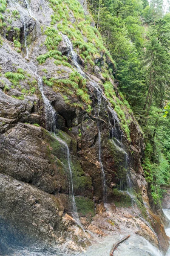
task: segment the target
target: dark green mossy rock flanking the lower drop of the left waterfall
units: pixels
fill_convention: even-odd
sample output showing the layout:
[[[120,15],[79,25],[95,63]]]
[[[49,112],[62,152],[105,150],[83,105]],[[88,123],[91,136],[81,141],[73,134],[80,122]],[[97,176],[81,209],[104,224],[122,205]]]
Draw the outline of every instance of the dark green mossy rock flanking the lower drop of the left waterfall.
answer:
[[[48,143],[48,158],[51,163],[57,166],[58,180],[61,182],[62,189],[66,189],[64,179],[70,179],[70,172],[68,168],[68,158],[65,145],[60,143],[52,134],[49,134],[45,129],[42,129],[43,137]],[[72,138],[63,131],[57,132],[57,137],[63,140],[67,145],[71,147],[75,145]],[[82,167],[77,157],[74,157],[73,151],[71,151],[71,171],[74,184],[75,195],[85,195],[92,197],[91,194],[91,177],[83,172]]]

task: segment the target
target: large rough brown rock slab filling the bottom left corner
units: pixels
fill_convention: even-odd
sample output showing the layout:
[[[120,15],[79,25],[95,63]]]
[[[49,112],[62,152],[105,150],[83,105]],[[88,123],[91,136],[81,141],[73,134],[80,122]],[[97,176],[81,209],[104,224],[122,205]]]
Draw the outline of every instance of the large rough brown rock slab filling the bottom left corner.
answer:
[[[8,253],[12,248],[34,244],[39,249],[50,247],[48,239],[56,243],[62,231],[60,211],[54,195],[1,174],[0,250],[7,248]]]

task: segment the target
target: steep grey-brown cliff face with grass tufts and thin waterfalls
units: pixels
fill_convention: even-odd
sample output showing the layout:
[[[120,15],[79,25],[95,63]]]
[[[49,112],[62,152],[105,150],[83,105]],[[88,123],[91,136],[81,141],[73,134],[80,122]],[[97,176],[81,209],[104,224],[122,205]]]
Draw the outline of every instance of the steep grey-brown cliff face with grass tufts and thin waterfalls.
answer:
[[[147,197],[142,131],[118,93],[114,61],[86,2],[79,2],[0,0],[2,255],[27,247],[62,253],[68,241],[80,250],[89,241],[82,228],[75,231],[71,191],[80,221],[95,233],[91,221],[105,211],[103,201],[130,205],[119,192],[127,187],[168,247]]]

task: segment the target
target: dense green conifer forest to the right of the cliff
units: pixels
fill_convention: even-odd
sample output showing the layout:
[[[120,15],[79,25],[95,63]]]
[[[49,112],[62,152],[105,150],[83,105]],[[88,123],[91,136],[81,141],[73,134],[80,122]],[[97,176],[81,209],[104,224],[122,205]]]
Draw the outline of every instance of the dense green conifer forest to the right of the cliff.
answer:
[[[170,179],[170,12],[162,0],[89,0],[96,27],[115,61],[120,93],[145,140],[143,168],[153,202]]]

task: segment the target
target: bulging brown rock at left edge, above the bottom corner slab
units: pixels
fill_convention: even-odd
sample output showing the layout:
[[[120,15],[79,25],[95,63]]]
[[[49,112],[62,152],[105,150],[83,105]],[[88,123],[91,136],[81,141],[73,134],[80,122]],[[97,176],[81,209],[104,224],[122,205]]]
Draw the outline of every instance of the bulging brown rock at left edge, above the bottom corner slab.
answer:
[[[0,172],[52,193],[57,189],[55,169],[41,136],[41,128],[22,124],[9,129],[6,136],[1,135]]]

